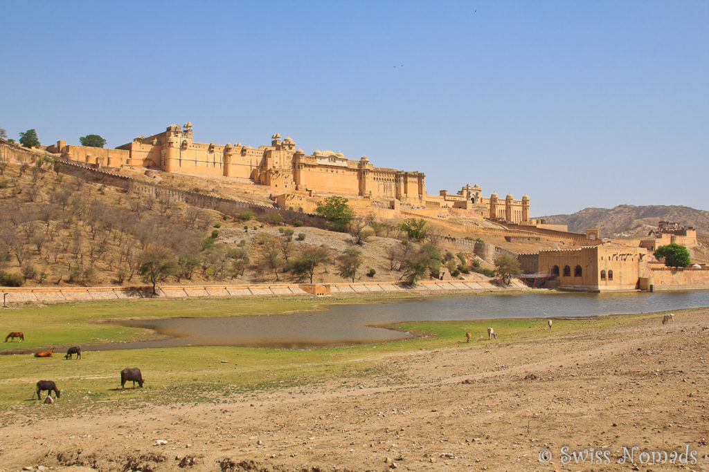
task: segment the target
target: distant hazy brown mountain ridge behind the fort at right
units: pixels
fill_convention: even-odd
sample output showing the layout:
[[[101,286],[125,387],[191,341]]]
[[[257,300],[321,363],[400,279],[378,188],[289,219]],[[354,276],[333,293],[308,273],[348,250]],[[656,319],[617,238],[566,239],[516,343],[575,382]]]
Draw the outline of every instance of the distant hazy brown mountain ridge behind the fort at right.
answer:
[[[548,224],[566,224],[569,231],[584,233],[586,228],[598,228],[601,237],[613,234],[647,234],[657,228],[658,221],[676,221],[693,226],[698,234],[709,235],[709,212],[679,205],[618,205],[615,208],[584,208],[574,214],[552,214],[544,219]]]

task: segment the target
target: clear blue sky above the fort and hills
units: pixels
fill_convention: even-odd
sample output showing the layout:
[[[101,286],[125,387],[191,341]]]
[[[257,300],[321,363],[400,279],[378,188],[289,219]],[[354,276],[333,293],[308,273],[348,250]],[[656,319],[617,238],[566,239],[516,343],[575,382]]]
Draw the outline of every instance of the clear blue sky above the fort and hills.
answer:
[[[707,1],[0,6],[14,139],[113,147],[189,120],[198,142],[279,132],[421,171],[428,193],[527,193],[533,216],[709,209]]]

